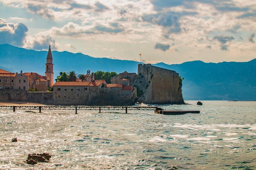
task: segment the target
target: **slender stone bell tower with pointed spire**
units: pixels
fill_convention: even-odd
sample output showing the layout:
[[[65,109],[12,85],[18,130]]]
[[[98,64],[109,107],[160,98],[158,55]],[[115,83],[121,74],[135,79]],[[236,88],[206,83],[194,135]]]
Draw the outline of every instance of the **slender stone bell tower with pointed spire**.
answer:
[[[51,51],[51,45],[49,45],[49,50],[46,58],[46,69],[45,69],[45,76],[47,77],[47,80],[49,80],[49,87],[53,86],[53,63],[52,63],[52,51]]]

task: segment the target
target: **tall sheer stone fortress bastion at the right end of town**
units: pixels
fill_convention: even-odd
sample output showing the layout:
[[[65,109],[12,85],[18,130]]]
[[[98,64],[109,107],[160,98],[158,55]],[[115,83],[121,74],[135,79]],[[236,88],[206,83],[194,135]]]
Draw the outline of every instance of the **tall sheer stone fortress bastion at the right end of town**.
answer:
[[[139,101],[148,104],[183,104],[180,76],[173,70],[138,65],[134,86],[142,90]]]

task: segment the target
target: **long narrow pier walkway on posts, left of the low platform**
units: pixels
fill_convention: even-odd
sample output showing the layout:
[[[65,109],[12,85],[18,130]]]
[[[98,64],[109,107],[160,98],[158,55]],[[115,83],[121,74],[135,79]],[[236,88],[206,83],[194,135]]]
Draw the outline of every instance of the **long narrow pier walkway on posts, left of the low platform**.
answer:
[[[125,110],[128,113],[128,110],[163,110],[157,106],[0,106],[0,110],[39,110],[39,113],[42,110],[75,110],[77,114],[78,110]]]

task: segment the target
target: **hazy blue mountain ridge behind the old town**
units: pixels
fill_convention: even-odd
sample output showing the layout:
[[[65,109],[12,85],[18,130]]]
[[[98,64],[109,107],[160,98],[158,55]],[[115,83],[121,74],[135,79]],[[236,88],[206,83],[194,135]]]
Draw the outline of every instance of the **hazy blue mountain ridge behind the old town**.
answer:
[[[34,51],[12,45],[0,45],[0,68],[11,72],[37,72],[44,75],[47,51]],[[74,70],[85,74],[98,70],[137,73],[139,62],[94,58],[81,53],[52,51],[54,76]],[[182,64],[154,64],[175,70],[184,77],[184,100],[256,100],[256,59],[248,62],[204,63],[190,61]]]

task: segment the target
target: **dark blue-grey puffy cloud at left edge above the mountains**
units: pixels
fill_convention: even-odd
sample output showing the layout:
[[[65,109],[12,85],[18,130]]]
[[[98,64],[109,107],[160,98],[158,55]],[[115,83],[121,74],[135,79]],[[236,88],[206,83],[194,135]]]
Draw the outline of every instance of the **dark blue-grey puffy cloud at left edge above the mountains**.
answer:
[[[0,44],[11,44],[22,47],[27,36],[28,28],[22,23],[8,23],[0,18]]]

